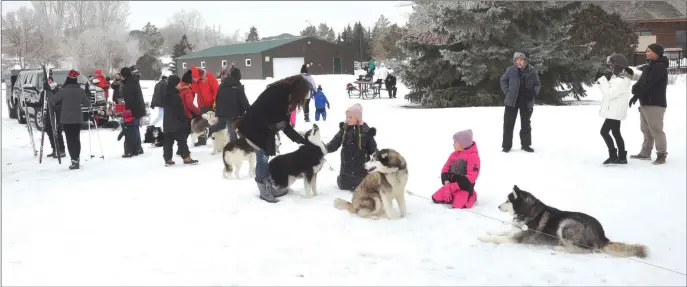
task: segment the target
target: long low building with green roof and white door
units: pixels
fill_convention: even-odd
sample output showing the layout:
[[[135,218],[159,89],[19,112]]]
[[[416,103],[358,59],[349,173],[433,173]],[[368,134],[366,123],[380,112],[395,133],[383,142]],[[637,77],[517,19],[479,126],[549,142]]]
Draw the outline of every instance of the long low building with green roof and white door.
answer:
[[[353,74],[353,51],[313,37],[216,46],[176,59],[177,74],[192,66],[218,74],[230,63],[241,69],[243,79],[281,79],[300,73],[303,64],[312,75]]]

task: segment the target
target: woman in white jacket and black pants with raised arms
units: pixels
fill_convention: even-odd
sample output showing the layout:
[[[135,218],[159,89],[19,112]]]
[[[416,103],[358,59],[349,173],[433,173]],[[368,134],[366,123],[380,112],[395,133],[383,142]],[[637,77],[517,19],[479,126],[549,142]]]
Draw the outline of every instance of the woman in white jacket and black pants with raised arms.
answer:
[[[625,151],[625,142],[620,134],[620,122],[627,117],[627,102],[632,96],[634,72],[629,68],[627,59],[620,54],[608,56],[606,64],[611,69],[612,75],[610,78],[602,76],[597,80],[603,96],[599,116],[606,119],[601,126],[601,136],[608,147],[608,159],[603,164],[627,164],[627,151]],[[617,149],[609,132],[615,138]]]

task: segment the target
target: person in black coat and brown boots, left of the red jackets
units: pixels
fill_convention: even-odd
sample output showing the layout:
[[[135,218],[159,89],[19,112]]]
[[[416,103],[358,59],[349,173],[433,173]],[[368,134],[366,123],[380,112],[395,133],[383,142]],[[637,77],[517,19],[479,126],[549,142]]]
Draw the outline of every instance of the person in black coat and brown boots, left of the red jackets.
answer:
[[[165,144],[162,157],[165,165],[173,165],[172,161],[174,142],[177,142],[177,154],[184,159],[184,164],[197,163],[191,159],[191,152],[188,149],[186,138],[188,137],[189,119],[186,116],[184,103],[178,85],[181,79],[177,75],[171,75],[167,79],[164,96],[162,97],[162,107],[165,109],[164,119],[162,120],[162,131],[165,133]]]

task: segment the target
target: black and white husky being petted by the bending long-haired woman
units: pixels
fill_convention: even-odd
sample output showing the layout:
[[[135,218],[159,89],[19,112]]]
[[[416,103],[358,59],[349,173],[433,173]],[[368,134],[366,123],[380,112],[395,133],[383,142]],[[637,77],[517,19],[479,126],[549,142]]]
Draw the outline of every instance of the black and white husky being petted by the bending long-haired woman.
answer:
[[[279,196],[290,192],[291,184],[301,178],[305,183],[304,195],[317,195],[317,173],[324,165],[327,148],[320,138],[320,128],[316,124],[313,124],[312,129],[305,132],[303,137],[306,144],[294,152],[276,156],[269,163],[270,175],[279,190]]]

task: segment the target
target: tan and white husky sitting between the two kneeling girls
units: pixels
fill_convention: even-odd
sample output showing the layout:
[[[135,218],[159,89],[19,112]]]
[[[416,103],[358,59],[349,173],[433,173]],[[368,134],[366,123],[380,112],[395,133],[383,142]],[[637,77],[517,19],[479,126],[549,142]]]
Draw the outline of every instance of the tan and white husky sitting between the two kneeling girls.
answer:
[[[408,166],[405,158],[393,149],[383,149],[372,155],[365,163],[370,173],[363,178],[353,191],[353,200],[348,202],[341,198],[334,200],[334,207],[348,210],[362,218],[379,219],[386,215],[388,219],[399,219],[393,211],[393,200],[396,200],[401,217],[406,216],[405,188],[408,182]]]

